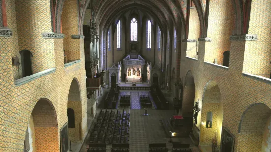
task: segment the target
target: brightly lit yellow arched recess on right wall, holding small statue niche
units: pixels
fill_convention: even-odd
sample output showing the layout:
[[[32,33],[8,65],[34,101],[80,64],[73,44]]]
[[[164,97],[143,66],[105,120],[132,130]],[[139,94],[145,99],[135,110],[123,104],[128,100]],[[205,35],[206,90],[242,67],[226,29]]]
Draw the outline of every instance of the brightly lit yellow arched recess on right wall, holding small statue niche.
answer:
[[[220,145],[223,104],[215,81],[209,81],[204,87],[201,110],[200,145],[212,145],[213,138]]]

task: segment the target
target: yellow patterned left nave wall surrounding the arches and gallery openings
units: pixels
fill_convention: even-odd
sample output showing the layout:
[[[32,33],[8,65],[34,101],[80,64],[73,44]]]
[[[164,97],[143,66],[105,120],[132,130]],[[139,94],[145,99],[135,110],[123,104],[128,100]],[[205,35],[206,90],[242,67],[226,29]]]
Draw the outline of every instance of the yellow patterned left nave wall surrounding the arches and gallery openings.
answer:
[[[1,50],[6,53],[0,53],[0,151],[12,152],[23,151],[25,131],[30,120],[32,110],[41,98],[47,98],[52,102],[56,111],[57,128],[56,133],[48,136],[49,140],[57,141],[57,144],[50,145],[54,152],[59,152],[60,137],[59,132],[63,125],[67,122],[67,104],[68,93],[71,81],[77,78],[80,86],[81,103],[82,103],[82,131],[83,137],[87,134],[87,114],[86,114],[86,82],[85,82],[85,64],[84,64],[84,40],[77,39],[71,43],[76,43],[78,48],[78,57],[81,58],[80,63],[76,63],[64,68],[63,61],[63,39],[42,39],[41,33],[50,32],[51,17],[49,0],[6,0],[8,27],[12,29],[13,36],[10,38],[0,37]],[[23,5],[25,4],[25,5]],[[21,7],[21,8],[19,8]],[[16,11],[15,11],[16,8]],[[18,14],[18,10],[26,9],[32,13],[28,14],[26,21],[18,19],[22,14]],[[31,10],[30,10],[31,9]],[[35,11],[32,11],[35,10]],[[37,12],[36,12],[37,11]],[[16,13],[15,13],[16,12]],[[35,12],[35,13],[33,13]],[[19,17],[16,17],[18,15]],[[27,16],[26,15],[26,16]],[[22,16],[23,17],[23,16]],[[18,24],[19,20],[21,23]],[[33,21],[38,21],[34,22]],[[34,27],[28,27],[30,24]],[[41,22],[41,24],[40,24]],[[47,23],[48,22],[48,23]],[[76,21],[77,22],[77,18]],[[26,27],[22,27],[25,23]],[[18,25],[17,25],[18,24]],[[41,26],[44,25],[44,26]],[[18,27],[17,27],[18,26]],[[22,28],[21,28],[22,27]],[[21,29],[19,29],[21,28]],[[23,29],[28,29],[28,33],[23,37]],[[18,31],[17,31],[18,29]],[[32,30],[32,31],[31,31]],[[78,32],[77,32],[78,33]],[[18,35],[20,34],[19,38]],[[76,34],[76,33],[75,33]],[[35,38],[37,41],[32,41]],[[28,42],[28,44],[25,41]],[[18,44],[19,41],[19,44]],[[23,46],[23,44],[26,44]],[[30,43],[30,44],[29,44]],[[11,56],[17,55],[19,48],[30,47],[30,51],[37,53],[40,59],[37,62],[33,59],[34,72],[46,70],[56,67],[54,73],[42,76],[32,80],[26,84],[15,86],[14,78],[18,77],[14,68],[12,69]],[[49,55],[49,56],[48,56]],[[17,67],[16,67],[17,68]],[[16,78],[17,79],[17,78]],[[38,128],[35,128],[36,132]],[[49,131],[52,132],[52,131]],[[37,133],[36,138],[39,137]],[[49,138],[50,137],[50,138]],[[38,145],[38,140],[36,140]],[[42,145],[41,145],[42,146]],[[49,150],[49,149],[48,149]],[[44,149],[42,150],[44,151]]]

